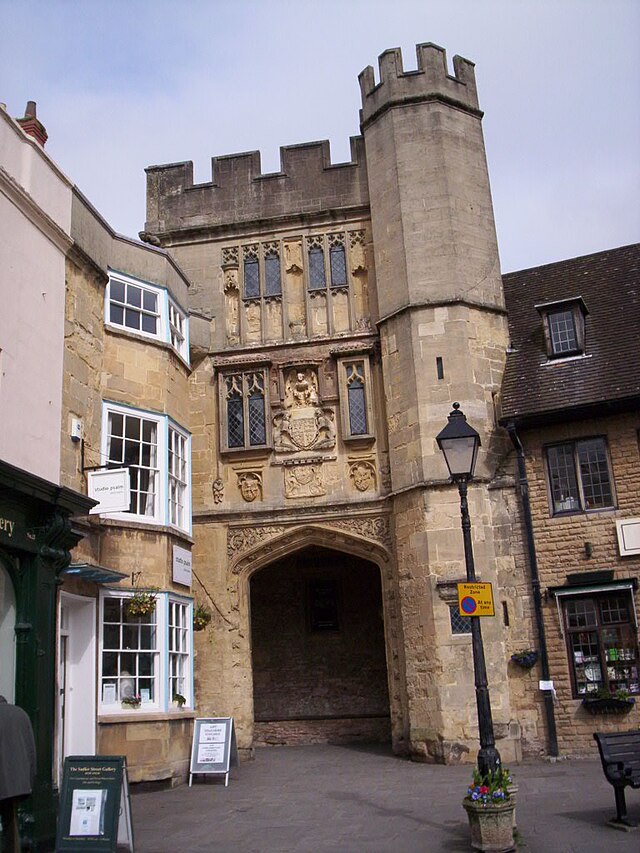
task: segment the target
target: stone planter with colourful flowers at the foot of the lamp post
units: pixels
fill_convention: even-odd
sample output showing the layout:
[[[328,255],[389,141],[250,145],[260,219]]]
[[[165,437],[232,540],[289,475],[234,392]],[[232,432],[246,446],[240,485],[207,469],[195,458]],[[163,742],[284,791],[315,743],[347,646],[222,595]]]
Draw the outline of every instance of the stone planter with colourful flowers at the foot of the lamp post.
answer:
[[[511,796],[512,783],[504,767],[486,776],[477,768],[473,771],[473,780],[462,805],[469,818],[471,846],[475,850],[493,853],[515,850],[513,813],[516,804]]]

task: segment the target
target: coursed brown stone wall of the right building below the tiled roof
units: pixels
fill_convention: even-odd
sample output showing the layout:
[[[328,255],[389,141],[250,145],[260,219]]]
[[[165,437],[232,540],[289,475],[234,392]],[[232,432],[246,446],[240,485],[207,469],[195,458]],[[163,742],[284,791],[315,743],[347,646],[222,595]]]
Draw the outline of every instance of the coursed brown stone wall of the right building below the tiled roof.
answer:
[[[616,535],[616,519],[640,516],[640,453],[637,414],[612,416],[600,420],[566,423],[544,429],[528,430],[521,434],[526,460],[527,477],[533,514],[536,553],[543,591],[562,586],[567,575],[599,569],[613,569],[615,578],[637,578],[640,558],[621,557]],[[552,517],[548,498],[544,446],[581,437],[606,436],[611,473],[615,488],[616,509],[575,513]],[[585,542],[593,548],[588,557]],[[640,593],[635,592],[636,609],[640,610]],[[555,705],[560,752],[567,755],[593,755],[592,733],[618,730],[618,716],[600,716],[597,723],[572,697],[568,663],[568,648],[560,631],[555,598],[544,595],[544,620],[549,648],[549,666],[558,703]],[[624,718],[624,728],[638,726],[638,703]]]

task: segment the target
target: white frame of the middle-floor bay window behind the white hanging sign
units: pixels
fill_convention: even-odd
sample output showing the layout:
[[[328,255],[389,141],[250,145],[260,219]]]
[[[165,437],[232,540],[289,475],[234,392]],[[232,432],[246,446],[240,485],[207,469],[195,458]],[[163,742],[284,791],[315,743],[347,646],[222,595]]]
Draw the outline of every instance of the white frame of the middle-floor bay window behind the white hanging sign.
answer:
[[[157,412],[149,412],[144,409],[136,409],[121,403],[111,403],[107,400],[102,404],[102,442],[101,458],[106,464],[109,461],[109,415],[120,414],[124,416],[141,418],[151,421],[156,425],[156,471],[157,490],[153,515],[133,512],[108,513],[109,518],[121,521],[139,521],[146,524],[163,524],[174,527],[185,533],[191,533],[191,435],[187,430],[173,421],[168,415],[160,415]],[[181,481],[183,487],[183,511],[182,524],[172,521],[170,502],[170,471],[169,471],[169,442],[171,435],[179,437],[183,442],[185,452],[185,475],[186,479]],[[114,463],[116,464],[116,463]],[[126,467],[126,463],[119,463],[118,467]],[[175,480],[174,480],[175,482]],[[106,513],[105,513],[106,515]]]

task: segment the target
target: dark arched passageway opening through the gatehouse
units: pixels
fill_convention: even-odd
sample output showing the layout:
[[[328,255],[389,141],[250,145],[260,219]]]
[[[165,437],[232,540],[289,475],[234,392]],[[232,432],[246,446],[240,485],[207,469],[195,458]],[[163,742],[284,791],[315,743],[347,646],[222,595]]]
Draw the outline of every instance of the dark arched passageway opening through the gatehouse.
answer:
[[[380,571],[308,547],[251,578],[254,743],[389,740]]]

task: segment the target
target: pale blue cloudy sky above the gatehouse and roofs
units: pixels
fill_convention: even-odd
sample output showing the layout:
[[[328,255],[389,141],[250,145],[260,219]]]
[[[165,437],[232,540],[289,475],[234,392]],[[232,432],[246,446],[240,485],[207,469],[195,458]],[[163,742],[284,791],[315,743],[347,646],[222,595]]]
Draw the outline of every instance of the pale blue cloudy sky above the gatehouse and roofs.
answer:
[[[0,101],[137,236],[145,166],[348,160],[359,72],[424,41],[476,63],[503,271],[640,238],[639,0],[0,0]]]

